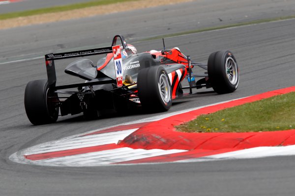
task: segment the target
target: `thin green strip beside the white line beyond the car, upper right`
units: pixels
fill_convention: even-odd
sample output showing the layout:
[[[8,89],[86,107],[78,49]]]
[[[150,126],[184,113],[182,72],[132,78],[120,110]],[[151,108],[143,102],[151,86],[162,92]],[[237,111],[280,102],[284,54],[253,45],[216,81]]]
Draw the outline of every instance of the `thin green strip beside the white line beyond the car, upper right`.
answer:
[[[232,28],[232,27],[238,27],[238,26],[257,25],[257,24],[261,24],[261,23],[269,23],[269,22],[282,21],[282,20],[287,20],[287,19],[295,19],[295,15],[293,15],[293,16],[285,16],[285,17],[277,17],[277,18],[270,18],[270,19],[261,19],[261,20],[243,22],[243,23],[230,24],[230,25],[221,25],[221,26],[214,26],[214,27],[208,27],[208,28],[194,29],[194,30],[189,30],[189,31],[182,31],[182,32],[178,32],[178,33],[171,33],[171,34],[166,34],[166,35],[159,35],[159,36],[155,36],[155,37],[149,37],[147,39],[143,39],[142,41],[169,38],[169,37],[175,37],[175,36],[179,36],[179,35],[188,35],[188,34],[192,34],[192,33],[200,33],[200,32],[212,31],[212,30],[220,30],[220,29]]]

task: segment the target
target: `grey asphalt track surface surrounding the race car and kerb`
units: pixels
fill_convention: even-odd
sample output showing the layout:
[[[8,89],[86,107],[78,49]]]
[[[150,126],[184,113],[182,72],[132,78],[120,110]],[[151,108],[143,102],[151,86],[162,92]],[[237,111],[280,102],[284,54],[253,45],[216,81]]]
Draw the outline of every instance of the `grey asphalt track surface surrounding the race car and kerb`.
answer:
[[[239,4],[235,1],[218,3],[217,0],[199,3],[203,3],[203,7],[200,6],[200,11],[196,13],[186,12],[196,7],[196,2],[190,2],[181,6],[1,30],[0,195],[294,195],[294,156],[90,168],[41,167],[17,164],[8,159],[12,153],[26,147],[154,115],[139,113],[95,121],[85,121],[81,115],[77,115],[62,117],[55,124],[32,126],[25,114],[23,97],[30,80],[46,78],[44,59],[39,58],[41,54],[110,43],[116,33],[126,35],[139,51],[161,49],[161,40],[139,40],[172,31],[247,21],[249,18],[276,17],[276,8],[277,12],[281,11],[282,6],[290,12],[295,8],[291,1],[272,1],[271,5],[260,6],[254,0],[244,0]],[[245,6],[241,8],[241,5]],[[272,7],[269,8],[271,11],[268,12],[267,7]],[[182,17],[167,16],[171,10]],[[244,17],[246,13],[249,17]],[[281,13],[285,14],[288,11]],[[220,22],[218,18],[223,21]],[[115,19],[118,19],[117,22],[114,22]],[[204,21],[197,24],[198,19]],[[105,26],[108,27],[103,28]],[[294,86],[294,29],[295,20],[287,20],[167,38],[166,48],[179,47],[183,53],[192,55],[193,60],[204,63],[211,52],[230,49],[236,56],[240,70],[240,85],[235,93],[217,95],[209,89],[202,90],[178,99],[169,112]],[[36,59],[15,62],[30,58]],[[58,69],[58,76],[63,75],[63,68]],[[65,83],[69,79],[60,78],[60,81]]]

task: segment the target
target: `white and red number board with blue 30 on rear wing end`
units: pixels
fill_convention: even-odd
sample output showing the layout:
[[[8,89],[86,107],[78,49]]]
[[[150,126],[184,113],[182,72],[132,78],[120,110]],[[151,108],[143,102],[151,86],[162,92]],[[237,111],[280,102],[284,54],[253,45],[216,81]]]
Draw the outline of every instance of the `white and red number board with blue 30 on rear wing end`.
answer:
[[[123,80],[123,63],[122,63],[122,57],[121,57],[121,49],[120,46],[113,46],[113,55],[114,55],[114,65],[115,65],[115,72],[116,72],[116,78],[117,78],[117,86],[122,86],[122,80]]]

